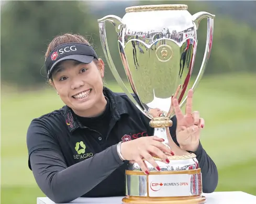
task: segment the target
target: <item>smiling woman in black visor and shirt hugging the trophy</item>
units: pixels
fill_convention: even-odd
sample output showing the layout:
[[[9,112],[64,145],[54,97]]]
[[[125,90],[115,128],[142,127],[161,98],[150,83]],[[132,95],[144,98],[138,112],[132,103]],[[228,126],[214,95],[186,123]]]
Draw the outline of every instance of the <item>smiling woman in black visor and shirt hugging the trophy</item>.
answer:
[[[82,36],[55,37],[45,66],[49,83],[65,104],[32,120],[27,132],[29,168],[47,197],[63,203],[77,197],[125,196],[128,161],[137,162],[145,174],[149,172],[141,158],[157,170],[152,155],[170,162],[163,152],[173,152],[153,136],[149,119],[125,94],[103,86],[104,63]],[[176,117],[168,134],[196,154],[203,190],[213,192],[217,168],[199,141],[204,120],[199,112],[192,113],[192,95],[190,91],[186,115],[174,100]]]

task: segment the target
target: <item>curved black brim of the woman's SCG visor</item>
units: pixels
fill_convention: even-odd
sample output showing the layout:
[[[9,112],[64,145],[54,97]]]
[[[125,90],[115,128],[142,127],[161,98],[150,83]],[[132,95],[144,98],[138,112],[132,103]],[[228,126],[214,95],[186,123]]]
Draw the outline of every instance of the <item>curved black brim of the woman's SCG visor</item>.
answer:
[[[81,63],[85,63],[85,64],[89,64],[93,61],[94,56],[91,55],[83,55],[83,54],[71,54],[68,56],[64,56],[63,58],[57,60],[56,62],[54,62],[54,64],[51,66],[51,69],[49,71],[48,77],[50,78],[52,75],[52,72],[54,71],[54,67],[64,61],[64,60],[75,60],[75,61],[79,61]]]

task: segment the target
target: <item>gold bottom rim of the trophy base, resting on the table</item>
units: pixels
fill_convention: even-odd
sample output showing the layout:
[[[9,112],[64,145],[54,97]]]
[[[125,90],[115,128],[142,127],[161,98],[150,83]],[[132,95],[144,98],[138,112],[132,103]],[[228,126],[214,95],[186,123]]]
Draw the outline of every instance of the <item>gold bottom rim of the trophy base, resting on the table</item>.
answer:
[[[206,202],[204,196],[189,196],[189,197],[139,197],[139,196],[127,196],[122,199],[123,203],[129,204],[202,204]]]

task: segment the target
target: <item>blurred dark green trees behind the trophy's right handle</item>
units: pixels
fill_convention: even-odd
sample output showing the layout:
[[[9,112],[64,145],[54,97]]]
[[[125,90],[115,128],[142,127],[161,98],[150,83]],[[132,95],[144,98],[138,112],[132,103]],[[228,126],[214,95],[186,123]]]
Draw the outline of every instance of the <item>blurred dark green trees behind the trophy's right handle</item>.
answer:
[[[256,36],[256,30],[248,24],[234,21],[230,16],[218,14],[218,9],[207,2],[140,1],[139,4],[186,4],[188,12],[192,15],[202,11],[215,14],[213,48],[205,74],[256,71],[254,63],[256,56],[256,39],[254,36]],[[199,71],[203,60],[206,32],[207,20],[204,19],[201,21],[197,31],[198,47],[194,65],[195,72],[193,74]]]

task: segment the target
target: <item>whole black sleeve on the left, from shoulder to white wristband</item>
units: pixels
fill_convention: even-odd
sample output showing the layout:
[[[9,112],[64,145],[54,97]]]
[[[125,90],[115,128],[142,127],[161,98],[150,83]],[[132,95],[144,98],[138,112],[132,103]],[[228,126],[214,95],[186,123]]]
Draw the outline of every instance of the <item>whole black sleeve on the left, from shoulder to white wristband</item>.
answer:
[[[38,119],[33,120],[28,128],[27,146],[30,168],[38,186],[57,203],[83,196],[124,164],[115,144],[68,166],[53,130]]]

